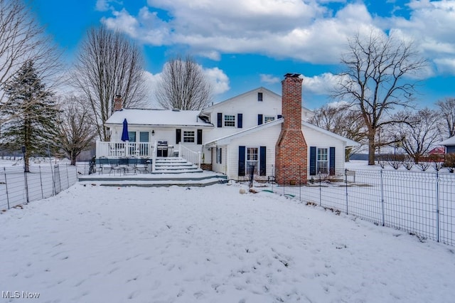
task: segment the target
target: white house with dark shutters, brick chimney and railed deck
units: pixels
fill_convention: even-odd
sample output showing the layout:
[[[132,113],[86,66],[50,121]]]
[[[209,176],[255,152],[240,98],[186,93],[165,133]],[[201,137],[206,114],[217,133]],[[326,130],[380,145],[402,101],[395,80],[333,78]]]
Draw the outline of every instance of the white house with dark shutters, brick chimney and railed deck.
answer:
[[[283,97],[259,87],[201,111],[121,109],[119,100],[105,124],[111,142],[97,142],[97,158],[189,158],[192,152],[198,157],[191,161],[229,179],[254,168],[257,178],[272,176],[279,183],[334,174],[344,169],[346,147],[358,144],[306,122],[312,112],[301,107],[301,81],[287,74]],[[125,119],[127,142],[121,140]]]

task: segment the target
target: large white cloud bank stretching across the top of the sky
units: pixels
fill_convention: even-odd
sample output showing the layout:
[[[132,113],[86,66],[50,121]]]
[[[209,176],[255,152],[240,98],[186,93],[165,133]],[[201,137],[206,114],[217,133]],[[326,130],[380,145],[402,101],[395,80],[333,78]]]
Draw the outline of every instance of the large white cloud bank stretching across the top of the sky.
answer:
[[[334,9],[332,2],[344,4]],[[105,7],[109,1],[97,4]],[[409,19],[373,17],[362,1],[148,0],[147,5],[137,15],[112,11],[102,21],[143,43],[183,46],[212,60],[220,60],[223,53],[255,53],[337,64],[347,39],[372,29],[414,38],[427,58],[441,52],[455,55],[454,0],[412,0],[407,4]],[[158,9],[166,11],[166,17],[154,11]]]

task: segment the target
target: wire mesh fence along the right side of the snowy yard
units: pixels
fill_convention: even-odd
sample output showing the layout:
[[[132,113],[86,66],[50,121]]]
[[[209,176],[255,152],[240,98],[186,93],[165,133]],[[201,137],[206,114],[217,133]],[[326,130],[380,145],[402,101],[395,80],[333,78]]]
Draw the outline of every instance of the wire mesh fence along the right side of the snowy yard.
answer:
[[[289,168],[287,168],[289,169]],[[287,169],[277,170],[285,174]],[[304,170],[302,170],[304,171]],[[455,174],[448,171],[348,170],[276,184],[273,168],[259,177],[267,191],[311,206],[406,230],[419,240],[455,245]]]

